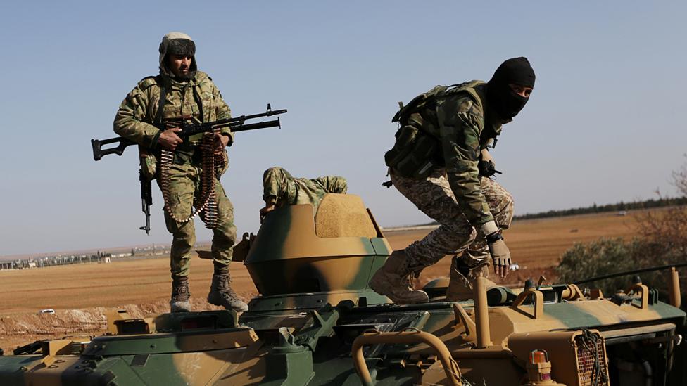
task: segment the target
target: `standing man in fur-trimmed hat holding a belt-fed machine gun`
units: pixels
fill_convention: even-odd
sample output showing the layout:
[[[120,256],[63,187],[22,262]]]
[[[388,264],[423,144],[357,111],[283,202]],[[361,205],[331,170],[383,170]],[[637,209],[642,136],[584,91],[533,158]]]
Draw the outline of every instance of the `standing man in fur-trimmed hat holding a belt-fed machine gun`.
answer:
[[[248,306],[230,286],[229,263],[236,239],[234,207],[219,181],[226,169],[225,146],[233,142],[232,131],[227,127],[183,139],[177,135],[181,131],[178,122],[221,120],[230,117],[231,110],[212,79],[198,71],[191,37],[170,32],[163,37],[159,52],[159,75],[142,79],[127,95],[114,129],[139,144],[141,166],[150,178],[157,177],[165,198],[165,224],[172,233],[171,311],[191,311],[189,264],[196,243],[193,217],[197,212],[213,229],[215,273],[208,302],[246,311]]]

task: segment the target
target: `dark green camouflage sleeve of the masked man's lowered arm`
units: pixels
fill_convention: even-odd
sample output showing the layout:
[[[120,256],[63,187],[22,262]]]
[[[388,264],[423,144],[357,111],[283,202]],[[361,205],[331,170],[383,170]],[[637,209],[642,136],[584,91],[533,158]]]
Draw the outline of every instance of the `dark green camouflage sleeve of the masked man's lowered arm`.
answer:
[[[451,191],[472,226],[493,221],[481,193],[477,169],[484,118],[471,98],[448,98],[441,102],[436,111]]]

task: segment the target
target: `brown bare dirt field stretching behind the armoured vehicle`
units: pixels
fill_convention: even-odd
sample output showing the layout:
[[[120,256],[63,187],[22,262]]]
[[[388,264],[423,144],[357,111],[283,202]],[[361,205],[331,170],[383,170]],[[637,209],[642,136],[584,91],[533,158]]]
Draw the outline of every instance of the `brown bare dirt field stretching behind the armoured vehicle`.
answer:
[[[521,285],[527,278],[554,278],[562,252],[576,242],[600,237],[636,235],[638,212],[626,216],[588,214],[573,217],[514,221],[504,237],[520,271],[505,283]],[[430,230],[394,231],[386,238],[394,249],[422,238]],[[448,276],[450,258],[425,269],[420,284]],[[213,264],[194,259],[190,286],[194,309],[216,309],[204,298]],[[232,264],[234,289],[249,299],[257,295],[243,264]],[[125,260],[111,264],[76,264],[21,271],[0,271],[0,348],[6,354],[17,345],[65,335],[98,335],[105,328],[105,309],[127,309],[134,317],[169,309],[171,279],[168,258]],[[37,314],[40,309],[56,314]]]

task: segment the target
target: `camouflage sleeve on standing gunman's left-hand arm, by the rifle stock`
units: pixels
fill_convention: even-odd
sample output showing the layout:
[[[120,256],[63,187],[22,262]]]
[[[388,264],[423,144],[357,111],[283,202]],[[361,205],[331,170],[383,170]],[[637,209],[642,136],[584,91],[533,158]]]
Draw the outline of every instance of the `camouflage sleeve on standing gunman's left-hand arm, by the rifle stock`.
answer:
[[[153,117],[148,117],[149,94],[150,89],[141,89],[138,84],[129,95],[122,101],[122,104],[115,115],[114,129],[115,133],[120,136],[130,139],[146,148],[154,148],[160,130],[145,122],[146,120],[152,122]]]

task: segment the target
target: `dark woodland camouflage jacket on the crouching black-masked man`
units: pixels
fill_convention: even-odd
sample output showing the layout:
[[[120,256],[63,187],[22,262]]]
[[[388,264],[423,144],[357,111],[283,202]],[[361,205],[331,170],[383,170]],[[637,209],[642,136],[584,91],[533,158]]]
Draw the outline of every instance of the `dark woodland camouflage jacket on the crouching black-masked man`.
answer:
[[[480,150],[500,134],[502,122],[489,111],[486,84],[471,84],[469,91],[449,89],[428,98],[401,125],[411,124],[440,141],[451,191],[470,224],[479,226],[493,216],[480,190],[477,162]]]

